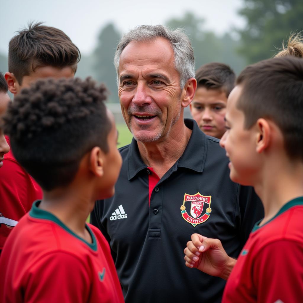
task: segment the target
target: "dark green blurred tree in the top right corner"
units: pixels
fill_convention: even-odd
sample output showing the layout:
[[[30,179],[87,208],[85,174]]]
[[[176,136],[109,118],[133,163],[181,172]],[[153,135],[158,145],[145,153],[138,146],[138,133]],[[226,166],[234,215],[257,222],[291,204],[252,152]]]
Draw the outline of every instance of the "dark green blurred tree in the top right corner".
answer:
[[[239,53],[248,63],[254,63],[275,55],[288,39],[290,32],[303,29],[302,0],[243,0],[239,14],[247,24],[239,30]]]

